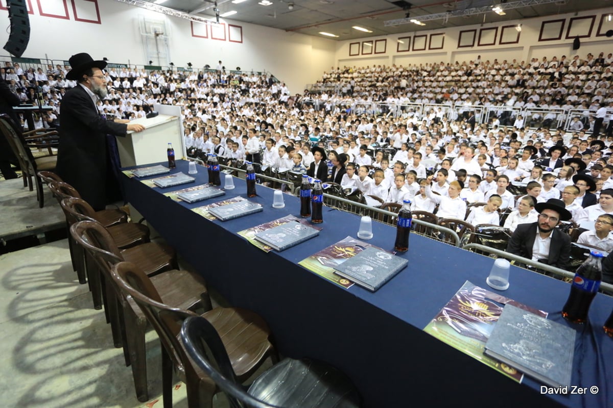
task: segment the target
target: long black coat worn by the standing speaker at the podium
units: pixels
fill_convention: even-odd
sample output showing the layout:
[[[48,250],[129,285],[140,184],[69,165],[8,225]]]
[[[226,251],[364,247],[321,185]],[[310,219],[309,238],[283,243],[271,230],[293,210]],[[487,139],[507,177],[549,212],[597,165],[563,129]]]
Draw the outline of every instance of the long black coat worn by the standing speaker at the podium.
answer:
[[[80,85],[62,98],[60,118],[56,171],[94,210],[104,209],[109,201],[107,191],[116,188],[107,164],[107,134],[124,136],[128,125],[103,119]]]

